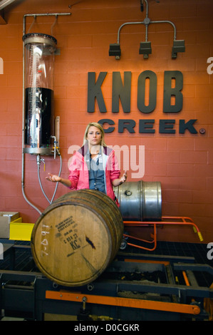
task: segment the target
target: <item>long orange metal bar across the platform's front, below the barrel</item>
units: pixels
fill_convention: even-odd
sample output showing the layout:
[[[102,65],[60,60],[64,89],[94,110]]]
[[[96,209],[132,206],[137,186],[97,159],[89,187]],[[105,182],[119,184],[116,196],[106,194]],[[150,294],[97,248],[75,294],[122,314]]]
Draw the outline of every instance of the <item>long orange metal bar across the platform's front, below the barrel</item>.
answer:
[[[81,294],[80,292],[46,291],[46,299],[77,301],[89,304],[103,304],[110,306],[132,307],[137,309],[153,309],[156,311],[173,311],[175,313],[199,314],[199,306],[195,304],[177,304],[173,302],[130,299],[122,297],[98,296]]]

